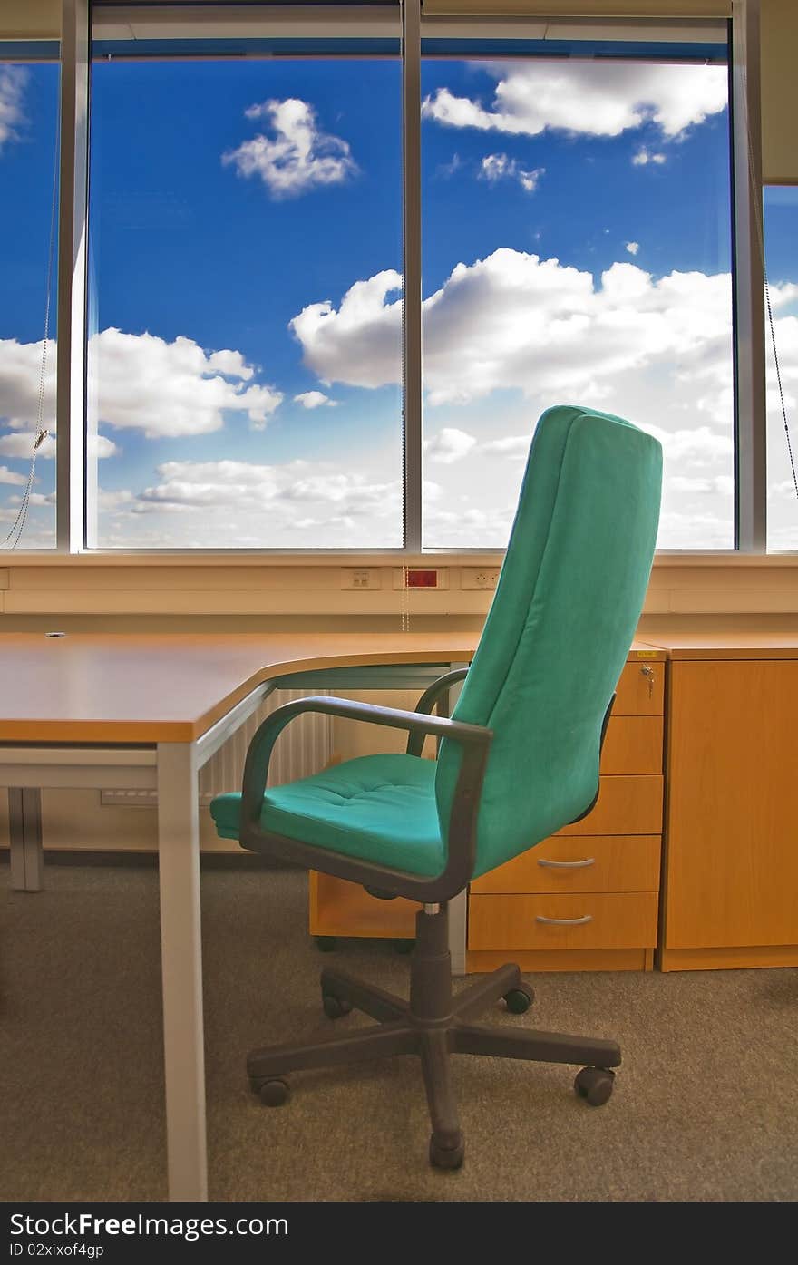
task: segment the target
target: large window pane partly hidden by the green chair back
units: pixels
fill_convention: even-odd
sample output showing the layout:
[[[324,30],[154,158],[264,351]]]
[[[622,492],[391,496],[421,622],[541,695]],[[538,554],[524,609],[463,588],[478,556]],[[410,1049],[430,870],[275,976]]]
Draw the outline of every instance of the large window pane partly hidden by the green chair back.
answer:
[[[503,548],[582,404],[661,439],[660,548],[734,548],[726,47],[654,52],[424,62],[426,546]]]

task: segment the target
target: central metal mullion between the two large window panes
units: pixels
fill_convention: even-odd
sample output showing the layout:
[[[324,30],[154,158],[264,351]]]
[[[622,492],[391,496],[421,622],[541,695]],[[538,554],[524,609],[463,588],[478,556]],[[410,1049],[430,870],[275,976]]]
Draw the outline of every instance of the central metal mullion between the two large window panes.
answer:
[[[405,549],[421,550],[421,3],[402,3]]]

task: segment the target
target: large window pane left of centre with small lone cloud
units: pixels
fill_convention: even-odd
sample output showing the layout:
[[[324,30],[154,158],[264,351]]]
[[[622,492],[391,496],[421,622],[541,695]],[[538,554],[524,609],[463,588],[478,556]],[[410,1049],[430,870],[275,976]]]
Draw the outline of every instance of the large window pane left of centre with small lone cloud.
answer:
[[[94,541],[401,548],[398,58],[100,59],[91,100]]]

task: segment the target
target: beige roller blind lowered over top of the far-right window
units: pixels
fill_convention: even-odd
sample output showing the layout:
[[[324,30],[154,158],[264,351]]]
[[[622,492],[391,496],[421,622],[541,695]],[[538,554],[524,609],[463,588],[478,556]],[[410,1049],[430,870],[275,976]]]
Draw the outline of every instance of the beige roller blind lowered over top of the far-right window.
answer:
[[[798,183],[798,0],[761,0],[763,182]]]

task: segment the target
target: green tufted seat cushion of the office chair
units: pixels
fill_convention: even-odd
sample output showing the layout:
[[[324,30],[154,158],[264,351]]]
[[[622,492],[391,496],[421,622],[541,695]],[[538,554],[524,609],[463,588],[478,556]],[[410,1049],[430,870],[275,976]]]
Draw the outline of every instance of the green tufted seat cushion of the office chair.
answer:
[[[240,794],[211,802],[223,839],[238,839],[240,806]],[[434,877],[445,864],[435,762],[416,755],[362,755],[269,787],[261,824],[277,835],[412,874]]]

